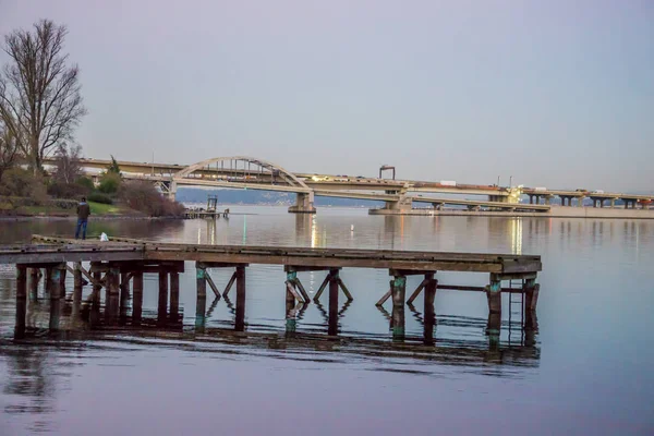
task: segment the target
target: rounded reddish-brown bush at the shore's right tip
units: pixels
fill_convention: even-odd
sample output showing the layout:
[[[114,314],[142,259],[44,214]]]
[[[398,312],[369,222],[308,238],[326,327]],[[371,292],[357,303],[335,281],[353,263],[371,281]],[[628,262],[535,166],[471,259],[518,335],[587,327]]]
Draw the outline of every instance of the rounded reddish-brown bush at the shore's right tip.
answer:
[[[179,217],[184,206],[166,198],[149,182],[132,181],[122,185],[120,198],[132,209],[150,217]]]

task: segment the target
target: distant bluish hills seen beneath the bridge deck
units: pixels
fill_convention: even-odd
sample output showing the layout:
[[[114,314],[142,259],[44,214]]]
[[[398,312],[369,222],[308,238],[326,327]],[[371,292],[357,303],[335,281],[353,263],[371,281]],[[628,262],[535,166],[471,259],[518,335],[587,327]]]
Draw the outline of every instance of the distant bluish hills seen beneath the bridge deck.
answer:
[[[206,203],[207,196],[217,195],[218,204],[243,205],[280,205],[295,204],[295,194],[287,192],[272,192],[259,190],[202,190],[195,187],[179,187],[177,201],[181,203]],[[316,197],[316,206],[346,206],[346,207],[382,207],[384,202],[373,202],[355,198]]]

